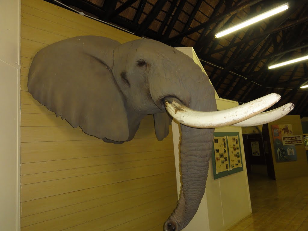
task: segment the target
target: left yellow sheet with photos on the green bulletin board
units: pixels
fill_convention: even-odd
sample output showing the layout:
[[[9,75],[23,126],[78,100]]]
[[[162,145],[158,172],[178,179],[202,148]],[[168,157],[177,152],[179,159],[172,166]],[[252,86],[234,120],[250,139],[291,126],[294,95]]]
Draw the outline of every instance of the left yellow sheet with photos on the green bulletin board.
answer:
[[[226,137],[214,137],[214,152],[216,172],[224,172],[229,170],[228,148]]]

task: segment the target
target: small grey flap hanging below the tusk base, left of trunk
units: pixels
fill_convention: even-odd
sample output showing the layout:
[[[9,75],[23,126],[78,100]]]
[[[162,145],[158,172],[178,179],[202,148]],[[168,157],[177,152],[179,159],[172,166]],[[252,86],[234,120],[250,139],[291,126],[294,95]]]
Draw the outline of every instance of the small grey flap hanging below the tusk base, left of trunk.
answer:
[[[169,134],[172,118],[167,112],[154,114],[155,135],[157,140],[163,140]]]

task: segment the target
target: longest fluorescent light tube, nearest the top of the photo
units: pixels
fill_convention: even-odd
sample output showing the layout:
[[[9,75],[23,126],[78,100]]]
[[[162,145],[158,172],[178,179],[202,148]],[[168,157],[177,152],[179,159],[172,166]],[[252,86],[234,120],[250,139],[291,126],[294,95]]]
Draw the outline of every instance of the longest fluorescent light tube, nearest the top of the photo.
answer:
[[[274,9],[272,9],[272,10],[266,11],[263,14],[259,14],[256,17],[253,17],[253,18],[250,18],[250,19],[248,19],[248,20],[246,20],[244,22],[241,22],[240,24],[237,24],[237,25],[232,26],[232,27],[230,27],[230,28],[228,28],[226,30],[218,32],[217,34],[215,34],[215,37],[219,38],[219,37],[222,37],[222,36],[224,36],[226,34],[230,34],[233,31],[240,30],[240,29],[242,29],[242,28],[244,28],[246,26],[249,26],[249,25],[251,25],[253,23],[259,22],[259,21],[263,20],[264,18],[268,18],[268,17],[270,17],[270,16],[272,16],[274,14],[278,14],[278,13],[280,13],[280,12],[282,12],[282,11],[288,9],[288,8],[289,8],[289,4],[285,3],[285,4],[283,4],[281,6],[278,6],[278,7],[274,8]]]

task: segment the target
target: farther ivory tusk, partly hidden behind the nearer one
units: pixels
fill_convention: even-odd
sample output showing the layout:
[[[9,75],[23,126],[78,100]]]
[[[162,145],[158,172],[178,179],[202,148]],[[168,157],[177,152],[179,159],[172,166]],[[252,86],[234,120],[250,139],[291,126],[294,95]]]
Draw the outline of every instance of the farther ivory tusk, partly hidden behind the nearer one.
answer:
[[[287,103],[274,110],[262,112],[258,115],[251,117],[250,119],[244,120],[237,124],[233,124],[232,126],[248,127],[248,126],[257,126],[261,124],[267,124],[267,123],[278,120],[281,117],[287,115],[290,111],[293,110],[293,108],[294,108],[293,103]]]

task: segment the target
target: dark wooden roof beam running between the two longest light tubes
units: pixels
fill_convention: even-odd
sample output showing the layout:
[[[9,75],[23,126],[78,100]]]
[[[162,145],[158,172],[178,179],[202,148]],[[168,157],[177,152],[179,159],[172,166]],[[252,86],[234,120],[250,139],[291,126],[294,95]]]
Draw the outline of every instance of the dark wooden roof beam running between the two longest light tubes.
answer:
[[[297,26],[298,24],[301,24],[301,23],[304,23],[304,22],[307,22],[307,21],[308,21],[308,16],[305,17],[305,18],[301,18],[299,20],[296,20],[295,22],[291,22],[291,23],[289,23],[285,26],[279,26],[279,27],[271,28],[270,30],[266,30],[265,32],[263,32],[261,34],[256,34],[256,35],[252,36],[251,38],[243,39],[240,42],[233,43],[233,44],[230,44],[229,46],[219,48],[219,49],[213,51],[212,54],[219,53],[219,52],[224,51],[224,50],[229,50],[232,47],[240,46],[243,43],[249,43],[251,40],[258,39],[258,38],[261,38],[261,37],[265,37],[265,36],[277,33],[277,32],[282,31],[282,30],[286,30],[290,27]]]

